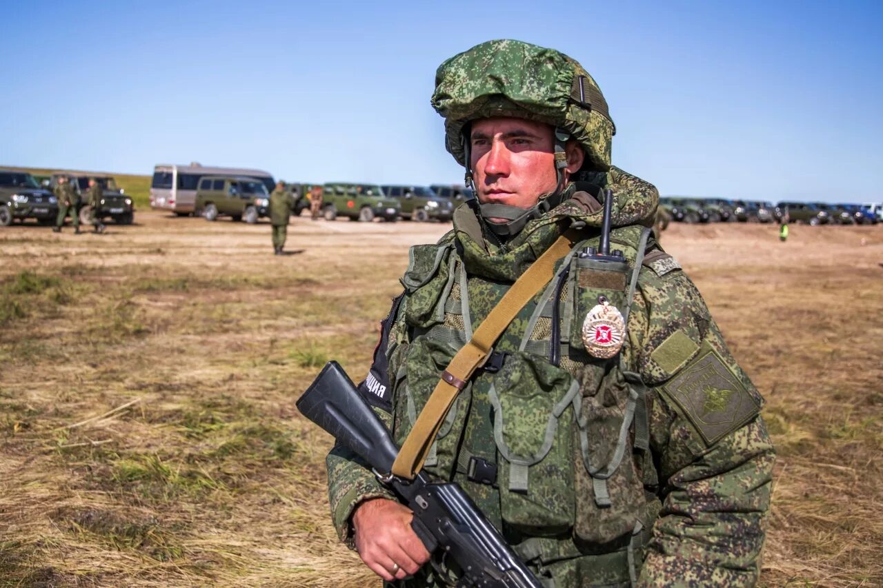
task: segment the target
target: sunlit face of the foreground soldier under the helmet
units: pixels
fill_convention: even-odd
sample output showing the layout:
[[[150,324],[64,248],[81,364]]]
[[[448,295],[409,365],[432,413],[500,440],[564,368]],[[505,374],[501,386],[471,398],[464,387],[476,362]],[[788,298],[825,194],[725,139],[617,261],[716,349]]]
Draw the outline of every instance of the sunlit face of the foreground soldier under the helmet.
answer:
[[[479,202],[530,208],[542,194],[555,191],[554,133],[549,124],[522,118],[472,123],[471,163]],[[576,143],[567,151],[567,170],[572,173],[582,165],[583,153]]]

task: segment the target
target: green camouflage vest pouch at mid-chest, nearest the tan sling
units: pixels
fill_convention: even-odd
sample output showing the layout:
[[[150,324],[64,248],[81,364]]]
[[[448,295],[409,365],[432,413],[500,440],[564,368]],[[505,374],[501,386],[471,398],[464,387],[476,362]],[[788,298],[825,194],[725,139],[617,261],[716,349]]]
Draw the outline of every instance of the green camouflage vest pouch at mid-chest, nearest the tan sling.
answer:
[[[573,405],[569,372],[525,351],[507,354],[488,391],[494,408],[503,521],[525,535],[568,531],[575,516]]]

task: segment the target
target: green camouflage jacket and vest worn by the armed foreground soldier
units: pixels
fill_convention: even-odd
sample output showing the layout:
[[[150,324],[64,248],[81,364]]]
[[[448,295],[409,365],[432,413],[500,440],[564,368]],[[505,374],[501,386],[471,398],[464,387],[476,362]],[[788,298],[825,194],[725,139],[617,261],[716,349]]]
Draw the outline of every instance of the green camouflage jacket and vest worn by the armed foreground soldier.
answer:
[[[426,471],[463,486],[538,576],[559,588],[753,585],[774,462],[758,414],[762,399],[676,261],[651,240],[635,267],[655,188],[615,168],[587,179],[614,190],[611,240],[629,263],[622,274],[605,273],[569,257],[567,279],[538,294],[498,340],[501,369],[479,372],[464,388]],[[585,237],[575,249],[597,243],[600,205],[577,187],[528,223],[508,251],[482,237],[468,207],[457,209],[454,230],[438,245],[412,248],[404,298],[360,385],[396,442],[449,348],[462,345],[562,226]],[[624,309],[631,271],[637,283],[623,351],[618,359],[592,358],[575,326],[599,291]],[[553,347],[560,357],[547,360]],[[535,440],[544,432],[551,448],[526,459],[540,455]],[[474,459],[495,464],[494,484],[471,475]],[[328,481],[336,529],[352,545],[353,509],[391,494],[340,448],[328,455]],[[425,566],[406,584],[443,580]]]

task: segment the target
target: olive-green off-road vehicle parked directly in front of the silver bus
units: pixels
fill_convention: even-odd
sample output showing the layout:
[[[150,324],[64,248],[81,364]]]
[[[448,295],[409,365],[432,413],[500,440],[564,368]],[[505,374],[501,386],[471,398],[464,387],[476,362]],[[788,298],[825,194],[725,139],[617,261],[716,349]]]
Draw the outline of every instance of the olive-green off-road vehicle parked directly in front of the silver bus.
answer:
[[[269,215],[270,195],[259,177],[203,176],[196,189],[194,210],[207,221],[227,215],[233,221],[258,222]]]

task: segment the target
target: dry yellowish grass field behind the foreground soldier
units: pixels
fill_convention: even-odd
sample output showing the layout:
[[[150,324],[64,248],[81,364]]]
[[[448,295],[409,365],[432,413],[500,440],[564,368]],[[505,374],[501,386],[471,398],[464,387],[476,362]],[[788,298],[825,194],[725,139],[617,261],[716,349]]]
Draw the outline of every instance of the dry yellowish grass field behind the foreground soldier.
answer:
[[[407,246],[447,225],[179,219],[0,230],[0,585],[379,585],[336,541],[294,401],[364,373]],[[673,225],[766,396],[762,582],[883,584],[883,226]]]

